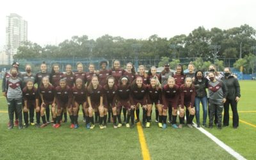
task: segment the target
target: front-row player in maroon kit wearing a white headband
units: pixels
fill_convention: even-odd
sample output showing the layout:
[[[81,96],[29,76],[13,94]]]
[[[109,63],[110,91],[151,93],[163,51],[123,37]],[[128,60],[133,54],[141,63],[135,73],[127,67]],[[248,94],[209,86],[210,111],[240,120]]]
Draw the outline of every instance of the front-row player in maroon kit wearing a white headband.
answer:
[[[134,113],[133,115],[131,115],[131,103],[129,99],[129,94],[130,94],[129,79],[126,76],[122,76],[118,84],[116,98],[117,98],[117,108],[120,108],[120,109],[123,108],[123,111],[125,110],[125,115],[126,115],[126,111],[128,110],[127,118],[124,121],[126,123],[127,128],[130,127],[129,121],[131,116],[133,116],[133,120],[134,120]]]

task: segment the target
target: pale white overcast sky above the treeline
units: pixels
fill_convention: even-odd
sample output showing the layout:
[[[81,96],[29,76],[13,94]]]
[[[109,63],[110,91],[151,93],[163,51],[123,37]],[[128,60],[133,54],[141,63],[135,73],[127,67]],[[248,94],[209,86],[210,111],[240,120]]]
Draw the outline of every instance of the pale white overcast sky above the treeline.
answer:
[[[0,48],[10,13],[28,21],[28,40],[44,46],[74,35],[145,39],[188,35],[198,26],[228,29],[248,24],[256,29],[255,6],[253,0],[1,0]]]

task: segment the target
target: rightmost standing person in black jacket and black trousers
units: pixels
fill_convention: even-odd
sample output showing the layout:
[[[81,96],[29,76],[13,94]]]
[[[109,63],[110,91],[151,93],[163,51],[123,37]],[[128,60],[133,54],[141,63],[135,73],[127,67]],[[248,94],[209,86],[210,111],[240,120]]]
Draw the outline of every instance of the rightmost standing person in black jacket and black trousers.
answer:
[[[239,101],[240,95],[240,85],[236,77],[230,75],[230,68],[224,69],[224,77],[221,80],[226,84],[228,88],[227,101],[224,104],[224,118],[223,126],[229,125],[229,104],[233,113],[233,128],[237,129],[239,125],[239,116],[237,113],[237,102]]]

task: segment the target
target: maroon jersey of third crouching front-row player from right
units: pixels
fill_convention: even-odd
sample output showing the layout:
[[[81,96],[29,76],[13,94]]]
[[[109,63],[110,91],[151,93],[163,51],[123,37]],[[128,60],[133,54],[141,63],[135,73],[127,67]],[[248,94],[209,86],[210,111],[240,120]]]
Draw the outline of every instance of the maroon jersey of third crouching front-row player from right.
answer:
[[[152,104],[155,102],[156,104],[161,104],[162,103],[162,90],[161,88],[152,88],[151,85],[148,86],[148,98],[147,98],[147,103]]]

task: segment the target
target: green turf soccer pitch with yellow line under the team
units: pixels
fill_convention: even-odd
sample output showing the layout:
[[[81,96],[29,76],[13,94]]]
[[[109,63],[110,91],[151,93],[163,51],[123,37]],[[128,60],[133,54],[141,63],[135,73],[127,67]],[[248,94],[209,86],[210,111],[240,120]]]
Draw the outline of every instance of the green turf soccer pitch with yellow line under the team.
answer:
[[[256,159],[256,81],[239,83],[239,128],[232,128],[230,117],[230,127],[205,130],[246,159]],[[169,124],[167,129],[160,129],[154,122],[154,109],[152,125],[147,129],[141,129],[140,124],[133,129],[114,129],[113,124],[99,129],[96,124],[89,130],[79,116],[79,129],[69,129],[68,120],[58,129],[30,125],[10,131],[7,109],[5,97],[0,97],[0,159],[236,159],[198,129],[173,129]]]

